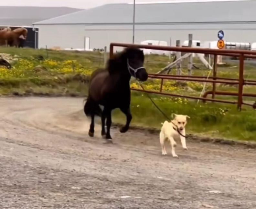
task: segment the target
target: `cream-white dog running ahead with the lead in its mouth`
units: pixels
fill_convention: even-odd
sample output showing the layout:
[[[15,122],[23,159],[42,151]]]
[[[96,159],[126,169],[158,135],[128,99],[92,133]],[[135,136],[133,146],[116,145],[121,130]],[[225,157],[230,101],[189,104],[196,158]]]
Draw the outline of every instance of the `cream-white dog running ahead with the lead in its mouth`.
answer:
[[[170,123],[168,121],[164,122],[161,128],[159,137],[160,137],[160,144],[162,146],[162,154],[163,155],[167,154],[165,150],[165,141],[167,140],[169,141],[172,147],[172,156],[178,157],[178,155],[176,155],[175,153],[175,147],[177,144],[174,141],[174,138],[180,137],[183,149],[187,150],[185,126],[187,124],[187,118],[190,118],[190,117],[187,115],[172,114],[172,117],[173,116],[174,116],[174,119]]]

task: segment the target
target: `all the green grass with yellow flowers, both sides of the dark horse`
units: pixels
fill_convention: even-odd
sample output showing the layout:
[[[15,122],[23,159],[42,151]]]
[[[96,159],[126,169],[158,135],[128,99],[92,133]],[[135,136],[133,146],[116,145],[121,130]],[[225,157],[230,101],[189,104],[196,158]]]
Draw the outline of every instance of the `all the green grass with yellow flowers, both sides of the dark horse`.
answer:
[[[13,63],[11,71],[6,71],[7,76],[0,75],[0,95],[58,95],[58,96],[82,96],[85,97],[88,91],[88,72],[92,72],[98,67],[103,67],[103,55],[98,52],[69,52],[53,50],[34,50],[0,48],[0,53],[18,55],[18,61]],[[38,59],[53,61],[45,63]],[[23,60],[23,61],[21,61]],[[67,60],[76,60],[72,66],[66,65]],[[168,56],[146,55],[145,67],[149,73],[156,73],[172,62]],[[208,75],[208,70],[194,59],[193,62],[200,69],[193,69],[193,75]],[[59,66],[55,64],[58,63]],[[245,62],[246,63],[246,62]],[[42,65],[46,71],[35,71],[33,68]],[[225,66],[218,66],[217,75],[226,78],[238,78],[238,65],[234,61],[228,61]],[[187,60],[182,63],[183,73],[187,74]],[[246,63],[245,78],[256,79],[256,67]],[[176,74],[176,69],[172,69],[171,74]],[[203,84],[187,82],[187,87],[192,91],[187,91],[176,81],[165,81],[165,92],[199,96]],[[160,90],[160,80],[148,80],[144,83],[145,88]],[[211,90],[212,85],[208,84],[206,90]],[[238,91],[236,86],[217,85],[219,91]],[[255,86],[246,86],[244,92],[255,93]],[[187,114],[191,117],[187,124],[187,133],[201,134],[212,137],[222,137],[236,140],[256,141],[256,110],[243,106],[241,112],[236,109],[236,105],[226,105],[219,103],[203,104],[195,100],[182,100],[172,97],[161,97],[151,95],[156,104],[167,114]],[[216,96],[218,99],[237,100],[234,96]],[[255,98],[244,98],[249,102],[254,102]],[[132,124],[161,128],[161,123],[165,121],[163,115],[155,108],[151,101],[142,93],[132,93]],[[124,115],[119,111],[114,111],[114,122],[125,122]]]

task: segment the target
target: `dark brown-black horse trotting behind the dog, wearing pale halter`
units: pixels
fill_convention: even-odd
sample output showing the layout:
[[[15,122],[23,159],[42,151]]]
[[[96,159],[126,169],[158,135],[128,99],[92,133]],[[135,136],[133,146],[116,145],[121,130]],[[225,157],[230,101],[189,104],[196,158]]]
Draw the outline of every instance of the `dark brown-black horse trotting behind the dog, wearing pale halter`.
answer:
[[[120,132],[125,133],[129,129],[132,120],[130,79],[133,76],[140,81],[147,80],[148,74],[143,63],[143,51],[129,47],[109,59],[106,69],[98,69],[93,72],[89,83],[89,95],[84,105],[84,113],[91,116],[89,136],[93,137],[94,135],[94,116],[98,115],[101,116],[101,135],[105,136],[108,141],[112,141],[110,135],[111,112],[115,108],[120,108],[126,115],[126,124],[120,129]],[[99,105],[104,107],[103,111]]]

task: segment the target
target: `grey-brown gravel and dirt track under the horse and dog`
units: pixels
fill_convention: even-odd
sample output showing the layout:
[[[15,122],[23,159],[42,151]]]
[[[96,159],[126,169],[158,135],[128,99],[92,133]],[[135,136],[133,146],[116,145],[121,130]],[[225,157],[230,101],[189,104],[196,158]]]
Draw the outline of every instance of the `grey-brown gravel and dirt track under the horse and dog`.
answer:
[[[87,136],[82,99],[0,99],[0,208],[256,208],[256,151],[178,143],[161,155],[157,134],[99,127]],[[210,193],[209,191],[219,191]]]

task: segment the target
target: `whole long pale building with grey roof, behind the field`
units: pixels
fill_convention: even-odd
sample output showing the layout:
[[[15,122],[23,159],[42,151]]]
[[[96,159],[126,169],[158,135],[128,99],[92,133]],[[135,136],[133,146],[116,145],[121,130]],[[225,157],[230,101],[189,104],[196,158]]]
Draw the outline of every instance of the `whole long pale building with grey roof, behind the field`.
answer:
[[[217,41],[219,30],[228,42],[256,42],[256,0],[138,3],[135,43],[145,40],[181,43]],[[108,4],[34,23],[39,47],[103,48],[111,42],[132,42],[132,4]],[[85,38],[87,37],[87,38]],[[90,39],[89,39],[90,38]],[[86,41],[85,41],[86,40]],[[90,46],[89,46],[90,45]]]

